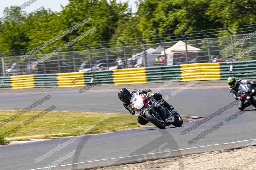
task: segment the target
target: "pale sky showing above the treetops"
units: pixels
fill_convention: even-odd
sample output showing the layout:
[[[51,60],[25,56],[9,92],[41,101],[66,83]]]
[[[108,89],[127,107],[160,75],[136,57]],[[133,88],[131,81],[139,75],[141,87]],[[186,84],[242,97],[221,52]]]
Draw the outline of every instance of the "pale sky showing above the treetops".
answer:
[[[25,2],[28,2],[29,0],[1,0],[2,2],[0,3],[0,15],[3,15],[3,11],[5,7],[10,7],[10,6],[21,6]],[[121,2],[126,2],[128,0],[120,0]],[[68,0],[37,0],[36,2],[32,3],[30,6],[26,7],[23,9],[23,11],[26,12],[31,12],[36,10],[37,8],[44,6],[44,8],[50,8],[52,11],[61,11],[61,6],[66,6],[69,3]],[[136,5],[135,5],[135,0],[129,0],[129,6],[132,6],[132,9],[136,11]]]

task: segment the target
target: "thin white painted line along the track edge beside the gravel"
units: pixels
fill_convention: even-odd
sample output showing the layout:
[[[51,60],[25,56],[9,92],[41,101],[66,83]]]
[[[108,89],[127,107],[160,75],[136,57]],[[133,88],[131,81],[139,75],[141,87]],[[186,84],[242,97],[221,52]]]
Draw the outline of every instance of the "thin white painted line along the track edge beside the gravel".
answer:
[[[177,150],[164,151],[164,152],[147,153],[147,154],[140,154],[140,155],[131,155],[131,156],[118,157],[118,158],[109,158],[109,159],[92,160],[92,161],[86,161],[86,162],[79,162],[79,163],[75,163],[75,164],[84,164],[84,163],[90,163],[90,162],[99,162],[99,161],[112,160],[112,159],[131,158],[131,157],[144,156],[144,155],[153,155],[153,154],[157,154],[157,153],[165,153],[165,152],[173,152],[173,151],[183,151],[183,150],[188,150],[188,149],[204,148],[204,147],[217,146],[217,145],[224,145],[224,144],[233,144],[233,143],[246,142],[246,141],[252,141],[252,140],[256,140],[256,139],[241,140],[241,141],[228,142],[228,143],[223,143],[223,144],[212,144],[212,145],[206,145],[206,146],[197,146],[197,147],[193,147],[193,148],[184,148],[184,149],[177,149]],[[66,165],[50,166],[50,167],[36,168],[36,169],[29,169],[29,170],[38,170],[38,169],[45,169],[45,168],[54,168],[54,167],[60,167],[60,166],[70,166],[70,165],[75,165],[75,164],[66,164]]]

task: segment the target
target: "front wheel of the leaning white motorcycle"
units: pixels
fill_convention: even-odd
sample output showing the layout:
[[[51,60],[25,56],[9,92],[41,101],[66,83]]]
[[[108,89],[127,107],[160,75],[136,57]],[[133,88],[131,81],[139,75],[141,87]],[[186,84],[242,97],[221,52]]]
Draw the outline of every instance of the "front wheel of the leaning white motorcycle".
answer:
[[[149,112],[145,112],[145,116],[147,119],[153,123],[156,127],[160,129],[164,129],[166,127],[165,122],[162,120],[160,114],[156,112],[154,109],[151,109]]]

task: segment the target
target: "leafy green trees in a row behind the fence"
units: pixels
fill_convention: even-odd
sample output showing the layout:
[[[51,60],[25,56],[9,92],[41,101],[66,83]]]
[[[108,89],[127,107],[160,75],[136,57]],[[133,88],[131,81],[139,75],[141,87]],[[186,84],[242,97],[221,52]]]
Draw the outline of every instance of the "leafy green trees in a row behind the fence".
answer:
[[[235,28],[256,21],[256,2],[252,0],[142,0],[137,3],[135,14],[127,3],[117,0],[110,3],[107,0],[69,1],[61,12],[44,9],[31,16],[17,6],[6,8],[4,14],[12,15],[0,22],[0,51],[5,56],[24,55],[88,17],[92,20],[42,50],[50,53],[53,46],[63,47],[93,27],[97,30],[77,44],[87,43],[96,49],[102,48],[100,41],[109,41],[111,43],[106,45],[114,47],[122,46],[118,40],[133,39],[135,41],[126,43],[133,45],[138,37],[149,43],[155,41],[149,36],[189,35],[191,31]],[[222,32],[219,36],[224,34],[228,35]],[[74,45],[76,50],[84,49],[77,44]]]

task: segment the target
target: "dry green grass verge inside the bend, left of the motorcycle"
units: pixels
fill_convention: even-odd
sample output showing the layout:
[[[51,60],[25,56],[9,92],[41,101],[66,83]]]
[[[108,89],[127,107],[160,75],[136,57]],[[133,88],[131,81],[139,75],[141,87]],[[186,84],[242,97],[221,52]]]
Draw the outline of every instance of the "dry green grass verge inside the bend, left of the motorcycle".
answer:
[[[15,115],[17,112],[0,111],[0,122]],[[32,110],[0,126],[0,135],[2,136],[12,131],[18,125],[20,127],[15,129],[15,131],[13,130],[13,133],[6,137],[7,141],[75,136],[87,129],[89,130],[85,134],[95,134],[107,131],[134,129],[141,126],[137,122],[137,115],[62,111],[51,111],[28,125],[23,124],[23,122],[40,112],[40,110]],[[0,144],[4,143],[6,141],[0,138]]]

